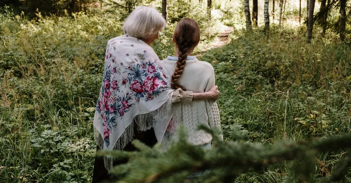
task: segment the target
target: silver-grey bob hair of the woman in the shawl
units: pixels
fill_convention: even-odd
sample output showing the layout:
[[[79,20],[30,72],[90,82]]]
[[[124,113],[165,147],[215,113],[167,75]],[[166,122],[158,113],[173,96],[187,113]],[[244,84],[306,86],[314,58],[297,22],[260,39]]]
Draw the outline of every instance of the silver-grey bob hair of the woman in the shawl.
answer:
[[[155,8],[138,6],[129,14],[122,28],[125,35],[146,39],[156,35],[165,26],[165,19]]]

